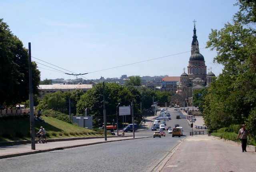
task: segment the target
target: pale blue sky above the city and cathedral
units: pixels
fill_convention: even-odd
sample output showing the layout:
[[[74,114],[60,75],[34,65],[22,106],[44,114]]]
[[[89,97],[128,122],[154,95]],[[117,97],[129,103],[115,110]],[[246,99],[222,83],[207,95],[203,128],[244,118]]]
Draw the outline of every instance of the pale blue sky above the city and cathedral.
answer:
[[[32,60],[75,73],[89,72],[84,75],[87,79],[119,78],[123,74],[180,76],[184,67],[187,72],[192,21],[196,20],[200,53],[207,68],[212,67],[218,75],[223,66],[213,63],[216,52],[205,47],[211,29],[221,29],[232,22],[238,11],[235,3],[236,0],[0,0],[0,18],[24,47],[28,48],[31,42],[32,57],[37,58]],[[182,54],[174,55],[178,53]],[[158,57],[164,58],[146,61]],[[122,66],[139,61],[146,62]],[[75,78],[64,74],[69,71],[44,65],[38,64],[41,80]],[[116,66],[122,67],[112,68]],[[106,68],[112,69],[103,70]]]

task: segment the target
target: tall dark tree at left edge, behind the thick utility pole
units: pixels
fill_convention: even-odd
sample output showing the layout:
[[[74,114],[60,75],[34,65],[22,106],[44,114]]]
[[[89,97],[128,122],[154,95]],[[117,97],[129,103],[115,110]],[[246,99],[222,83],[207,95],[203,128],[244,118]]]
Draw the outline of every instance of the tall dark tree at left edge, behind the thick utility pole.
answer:
[[[28,50],[0,19],[0,104],[12,106],[28,99]],[[34,94],[38,94],[40,71],[32,63]]]

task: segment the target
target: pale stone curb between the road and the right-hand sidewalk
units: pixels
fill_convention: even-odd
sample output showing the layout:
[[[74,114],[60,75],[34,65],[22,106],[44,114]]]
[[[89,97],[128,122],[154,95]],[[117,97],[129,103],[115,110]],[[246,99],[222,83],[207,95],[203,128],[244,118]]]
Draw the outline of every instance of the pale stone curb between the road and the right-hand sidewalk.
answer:
[[[162,160],[158,162],[156,166],[150,167],[146,172],[160,172],[162,168],[164,168],[166,162],[172,157],[175,151],[178,149],[181,143],[183,143],[188,137],[185,137],[180,143],[178,143],[174,148],[172,148],[168,153],[164,156]]]

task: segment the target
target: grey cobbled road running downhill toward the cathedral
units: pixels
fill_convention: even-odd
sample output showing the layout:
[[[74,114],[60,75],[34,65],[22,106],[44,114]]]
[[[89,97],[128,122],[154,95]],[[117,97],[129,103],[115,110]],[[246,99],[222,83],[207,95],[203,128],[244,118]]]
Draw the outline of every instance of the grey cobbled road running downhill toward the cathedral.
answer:
[[[166,137],[118,141],[72,149],[30,154],[0,160],[0,171],[4,172],[120,172],[146,171],[156,166],[170,149],[189,135],[191,128],[180,111],[168,108],[172,120],[166,126],[180,124],[183,137]],[[136,136],[152,136],[151,129],[136,132]],[[50,144],[50,143],[49,143]]]

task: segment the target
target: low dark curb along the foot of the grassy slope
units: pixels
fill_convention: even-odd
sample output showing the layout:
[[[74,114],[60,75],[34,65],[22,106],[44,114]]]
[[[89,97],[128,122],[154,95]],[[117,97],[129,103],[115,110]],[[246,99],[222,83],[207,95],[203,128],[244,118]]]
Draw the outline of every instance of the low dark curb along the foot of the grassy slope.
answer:
[[[130,137],[130,136],[108,136],[111,137]],[[94,137],[69,137],[69,138],[60,138],[60,139],[47,139],[47,142],[56,142],[56,141],[72,141],[72,140],[85,140],[85,139],[102,139],[104,136],[94,136]],[[35,140],[36,141],[36,140]],[[0,146],[12,146],[12,145],[23,145],[31,143],[30,140],[26,141],[10,141],[10,142],[0,142]]]

